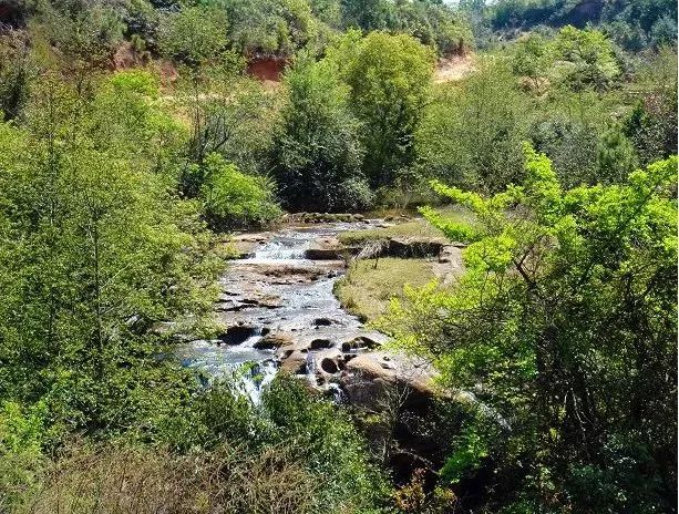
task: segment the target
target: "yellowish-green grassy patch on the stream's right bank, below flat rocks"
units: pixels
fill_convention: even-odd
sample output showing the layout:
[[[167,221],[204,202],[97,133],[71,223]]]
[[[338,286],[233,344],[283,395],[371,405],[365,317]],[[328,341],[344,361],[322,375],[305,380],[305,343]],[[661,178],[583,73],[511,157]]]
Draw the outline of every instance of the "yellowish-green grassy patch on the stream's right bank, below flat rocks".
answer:
[[[403,286],[424,286],[435,278],[429,259],[380,258],[358,260],[335,286],[335,294],[349,312],[363,321],[387,311],[389,300],[401,297]]]

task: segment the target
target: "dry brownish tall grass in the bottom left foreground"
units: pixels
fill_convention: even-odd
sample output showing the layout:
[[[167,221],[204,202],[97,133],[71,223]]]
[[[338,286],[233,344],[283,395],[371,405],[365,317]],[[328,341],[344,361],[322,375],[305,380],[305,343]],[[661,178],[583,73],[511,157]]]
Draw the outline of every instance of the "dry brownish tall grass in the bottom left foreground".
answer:
[[[177,455],[130,445],[74,445],[50,462],[11,514],[310,513],[312,476],[289,448],[222,446]]]

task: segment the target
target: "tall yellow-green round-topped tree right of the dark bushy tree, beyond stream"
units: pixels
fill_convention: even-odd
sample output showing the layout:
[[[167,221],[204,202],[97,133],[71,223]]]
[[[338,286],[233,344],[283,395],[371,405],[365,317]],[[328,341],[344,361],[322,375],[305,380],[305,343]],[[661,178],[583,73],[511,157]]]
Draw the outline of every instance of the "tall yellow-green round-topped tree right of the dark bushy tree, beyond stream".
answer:
[[[433,52],[410,35],[371,32],[335,59],[363,123],[363,171],[373,186],[388,185],[415,160],[414,133],[430,97]]]

